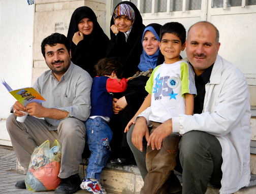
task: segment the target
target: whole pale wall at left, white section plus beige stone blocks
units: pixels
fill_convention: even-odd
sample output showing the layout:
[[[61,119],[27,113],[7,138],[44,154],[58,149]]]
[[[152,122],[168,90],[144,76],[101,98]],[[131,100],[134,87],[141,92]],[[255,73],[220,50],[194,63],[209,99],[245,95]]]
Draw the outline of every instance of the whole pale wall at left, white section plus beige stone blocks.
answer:
[[[81,6],[90,7],[105,29],[106,0],[0,0],[0,79],[13,88],[33,86],[48,70],[41,53],[42,40],[59,32],[67,35],[72,13]],[[6,129],[10,107],[16,101],[0,86],[0,145],[11,146]]]

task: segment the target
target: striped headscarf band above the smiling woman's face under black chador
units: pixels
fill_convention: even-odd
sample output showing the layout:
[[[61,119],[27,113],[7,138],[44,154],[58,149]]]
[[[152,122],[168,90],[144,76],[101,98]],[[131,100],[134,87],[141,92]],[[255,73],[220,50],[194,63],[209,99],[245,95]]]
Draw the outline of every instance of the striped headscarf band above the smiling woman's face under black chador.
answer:
[[[133,8],[127,4],[120,4],[119,6],[117,6],[117,8],[114,11],[114,22],[115,22],[115,18],[116,16],[127,16],[130,18],[130,20],[132,20],[132,26],[133,23],[135,21],[135,12],[133,10]]]

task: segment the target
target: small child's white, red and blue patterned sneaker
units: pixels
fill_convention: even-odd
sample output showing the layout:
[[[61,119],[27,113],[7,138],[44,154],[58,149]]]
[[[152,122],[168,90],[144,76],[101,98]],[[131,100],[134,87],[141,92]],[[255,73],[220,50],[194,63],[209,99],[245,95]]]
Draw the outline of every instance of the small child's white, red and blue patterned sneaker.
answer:
[[[83,190],[87,190],[89,192],[92,192],[93,194],[107,194],[104,188],[102,188],[100,181],[91,181],[90,179],[85,179],[83,182],[80,184],[80,187]]]

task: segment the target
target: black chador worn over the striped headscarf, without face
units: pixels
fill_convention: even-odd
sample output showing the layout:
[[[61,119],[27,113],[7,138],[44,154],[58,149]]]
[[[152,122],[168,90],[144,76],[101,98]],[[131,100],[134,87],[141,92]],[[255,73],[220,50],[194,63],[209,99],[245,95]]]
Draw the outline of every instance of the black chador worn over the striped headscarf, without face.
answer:
[[[107,49],[106,57],[116,57],[118,61],[122,63],[124,68],[124,76],[133,76],[136,71],[139,70],[138,65],[140,63],[140,55],[142,53],[141,38],[144,29],[142,23],[142,17],[137,7],[131,2],[121,2],[117,4],[127,4],[131,6],[135,12],[135,21],[133,23],[132,30],[125,41],[125,35],[123,32],[118,32],[117,35],[110,29],[110,43]],[[115,7],[115,9],[117,8]],[[115,10],[114,9],[114,10]],[[114,25],[114,14],[112,15],[110,26]]]

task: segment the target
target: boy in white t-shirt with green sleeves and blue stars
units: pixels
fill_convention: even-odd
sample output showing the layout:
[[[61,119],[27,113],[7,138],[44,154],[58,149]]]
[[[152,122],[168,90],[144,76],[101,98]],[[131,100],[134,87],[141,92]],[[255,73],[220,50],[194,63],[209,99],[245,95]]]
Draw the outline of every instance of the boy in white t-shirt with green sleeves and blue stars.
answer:
[[[179,58],[180,52],[185,49],[185,37],[186,30],[178,22],[167,23],[160,30],[159,48],[165,62],[153,70],[145,87],[149,95],[141,107],[145,109],[151,105],[152,114],[149,120],[153,127],[150,134],[159,125],[181,113],[193,115],[194,97],[197,94],[194,71]],[[166,180],[170,176],[177,180],[173,170],[176,166],[179,140],[179,134],[171,133],[163,140],[162,148],[153,150],[151,145],[148,145],[148,174],[141,193],[168,193],[170,181]]]

